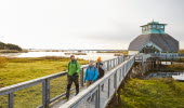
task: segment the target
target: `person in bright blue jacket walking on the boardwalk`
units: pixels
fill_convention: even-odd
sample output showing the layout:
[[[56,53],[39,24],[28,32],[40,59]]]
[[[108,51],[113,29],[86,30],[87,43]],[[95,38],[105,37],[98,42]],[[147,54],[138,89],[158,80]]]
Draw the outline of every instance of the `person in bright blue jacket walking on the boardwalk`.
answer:
[[[84,76],[87,86],[90,86],[93,82],[95,82],[97,80],[97,77],[98,77],[97,68],[94,66],[94,62],[90,60]]]

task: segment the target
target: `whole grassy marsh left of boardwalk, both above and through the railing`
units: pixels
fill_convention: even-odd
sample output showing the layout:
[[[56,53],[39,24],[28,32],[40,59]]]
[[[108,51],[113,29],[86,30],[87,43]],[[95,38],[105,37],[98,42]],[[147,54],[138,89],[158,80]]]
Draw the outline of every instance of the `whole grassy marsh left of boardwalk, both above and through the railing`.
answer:
[[[0,68],[0,86],[8,86],[23,81],[32,80],[48,75],[62,72],[67,69],[69,58],[5,58],[6,63]],[[87,64],[87,60],[78,59]],[[66,91],[66,77],[51,80],[51,98]],[[42,84],[14,93],[14,108],[36,108],[42,105]],[[8,95],[0,96],[0,108],[8,108]]]

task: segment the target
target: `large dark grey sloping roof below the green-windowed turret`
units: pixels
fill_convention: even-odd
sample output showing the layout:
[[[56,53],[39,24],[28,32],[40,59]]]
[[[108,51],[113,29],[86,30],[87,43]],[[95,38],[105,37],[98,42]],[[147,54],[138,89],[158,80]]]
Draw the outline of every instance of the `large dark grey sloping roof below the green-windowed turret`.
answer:
[[[139,51],[144,44],[153,42],[159,46],[162,52],[178,52],[179,41],[168,33],[148,33],[136,37],[129,45],[129,51]]]

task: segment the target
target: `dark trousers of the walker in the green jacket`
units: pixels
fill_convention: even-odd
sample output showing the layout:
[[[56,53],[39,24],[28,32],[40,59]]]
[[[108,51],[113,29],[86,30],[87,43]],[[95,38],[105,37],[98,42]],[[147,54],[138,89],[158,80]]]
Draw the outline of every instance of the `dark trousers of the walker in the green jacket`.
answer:
[[[66,97],[69,98],[70,87],[73,82],[76,85],[76,95],[79,93],[79,76],[67,76],[67,89],[66,89]]]

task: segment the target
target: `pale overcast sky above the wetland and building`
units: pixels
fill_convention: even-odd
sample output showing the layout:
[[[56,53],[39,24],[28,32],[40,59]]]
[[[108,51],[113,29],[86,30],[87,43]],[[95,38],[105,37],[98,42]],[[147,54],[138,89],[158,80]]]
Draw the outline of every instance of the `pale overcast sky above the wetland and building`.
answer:
[[[24,49],[127,50],[153,19],[184,49],[184,0],[0,0],[0,41]]]

